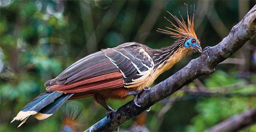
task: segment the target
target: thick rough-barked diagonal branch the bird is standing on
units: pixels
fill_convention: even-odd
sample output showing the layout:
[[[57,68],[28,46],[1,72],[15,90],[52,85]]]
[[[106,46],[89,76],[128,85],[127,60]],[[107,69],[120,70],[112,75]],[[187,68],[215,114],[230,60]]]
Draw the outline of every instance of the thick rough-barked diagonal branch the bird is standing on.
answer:
[[[138,107],[133,101],[121,106],[112,113],[112,120],[106,117],[86,130],[113,131],[125,122],[139,115],[150,106],[176,92],[184,85],[202,75],[212,73],[214,67],[234,54],[256,33],[256,5],[234,26],[229,35],[214,47],[207,47],[197,59],[191,60],[184,68],[160,82],[138,97]]]

